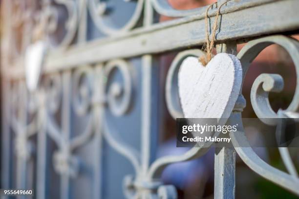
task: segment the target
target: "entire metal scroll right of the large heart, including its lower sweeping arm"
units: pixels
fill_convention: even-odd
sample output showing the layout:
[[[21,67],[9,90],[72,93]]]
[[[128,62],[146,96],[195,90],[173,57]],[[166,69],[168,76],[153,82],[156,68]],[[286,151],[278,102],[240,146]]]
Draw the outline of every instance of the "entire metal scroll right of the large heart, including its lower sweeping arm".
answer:
[[[285,36],[270,36],[248,42],[237,55],[243,67],[243,80],[250,66],[250,63],[264,48],[271,44],[278,44],[282,46],[290,54],[292,60],[295,63],[297,86],[293,100],[288,108],[286,110],[279,110],[278,113],[275,113],[269,103],[268,94],[271,91],[279,92],[280,90],[282,90],[283,79],[277,74],[261,74],[260,76],[258,76],[252,87],[251,100],[257,117],[264,122],[264,118],[279,118],[284,112],[296,113],[299,110],[299,42],[297,40]],[[241,123],[241,118],[238,118],[236,120],[237,122]],[[271,120],[270,122],[266,121],[265,123],[269,125],[275,125],[277,124],[277,121],[278,120]],[[294,170],[295,167],[292,160],[290,159],[287,148],[279,147],[279,152],[290,174],[282,172],[260,159],[252,149],[252,147],[250,147],[250,143],[248,142],[248,139],[242,127],[239,127],[238,132],[230,134],[230,136],[232,138],[232,142],[235,146],[236,152],[252,170],[254,170],[260,176],[299,195],[298,174]],[[248,147],[240,147],[243,145],[246,145]]]

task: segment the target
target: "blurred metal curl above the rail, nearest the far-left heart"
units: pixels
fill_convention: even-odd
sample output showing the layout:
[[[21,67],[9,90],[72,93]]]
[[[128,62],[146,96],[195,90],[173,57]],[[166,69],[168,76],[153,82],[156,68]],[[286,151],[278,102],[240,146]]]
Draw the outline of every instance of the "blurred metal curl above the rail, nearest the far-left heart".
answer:
[[[31,27],[32,40],[47,40],[52,47],[68,46],[77,31],[77,1],[41,0],[38,3],[41,9],[32,14],[35,19]]]

